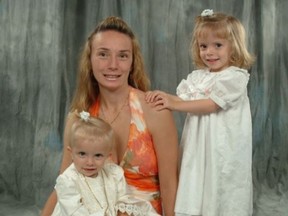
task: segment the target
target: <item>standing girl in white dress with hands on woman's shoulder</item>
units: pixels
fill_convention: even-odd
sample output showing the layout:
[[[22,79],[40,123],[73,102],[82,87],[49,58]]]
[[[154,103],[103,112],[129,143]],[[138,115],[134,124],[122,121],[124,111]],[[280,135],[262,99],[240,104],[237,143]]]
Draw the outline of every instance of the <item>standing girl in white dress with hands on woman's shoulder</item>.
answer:
[[[254,58],[238,19],[213,10],[196,18],[191,44],[198,70],[177,96],[148,92],[158,110],[187,112],[177,216],[252,215],[252,124],[247,69]]]

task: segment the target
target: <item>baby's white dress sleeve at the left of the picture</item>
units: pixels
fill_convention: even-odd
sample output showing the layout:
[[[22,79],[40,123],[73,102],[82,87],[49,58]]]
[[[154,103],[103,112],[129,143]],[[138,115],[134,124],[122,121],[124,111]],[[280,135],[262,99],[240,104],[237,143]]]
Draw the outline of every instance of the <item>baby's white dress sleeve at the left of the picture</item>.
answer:
[[[81,195],[74,179],[60,175],[56,180],[55,190],[58,203],[52,216],[104,216],[104,213],[89,213],[82,203]]]

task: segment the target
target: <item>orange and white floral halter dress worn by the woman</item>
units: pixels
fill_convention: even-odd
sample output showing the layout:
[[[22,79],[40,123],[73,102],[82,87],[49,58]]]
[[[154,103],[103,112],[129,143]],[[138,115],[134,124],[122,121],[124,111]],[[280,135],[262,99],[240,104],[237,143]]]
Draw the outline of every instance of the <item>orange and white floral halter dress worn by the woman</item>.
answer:
[[[150,201],[158,214],[162,215],[158,164],[152,136],[149,133],[140,101],[133,88],[130,88],[129,106],[131,123],[129,141],[120,162],[125,179],[135,196]],[[100,101],[89,109],[92,116],[98,116]]]

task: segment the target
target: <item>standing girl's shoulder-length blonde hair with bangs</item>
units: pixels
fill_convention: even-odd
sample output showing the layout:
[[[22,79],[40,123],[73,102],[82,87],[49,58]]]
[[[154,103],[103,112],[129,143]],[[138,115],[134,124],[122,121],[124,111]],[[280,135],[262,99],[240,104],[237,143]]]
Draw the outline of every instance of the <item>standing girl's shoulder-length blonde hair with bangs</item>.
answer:
[[[193,63],[197,68],[205,68],[200,57],[199,37],[205,37],[207,30],[212,30],[221,39],[227,39],[231,44],[230,65],[249,69],[255,57],[246,48],[246,32],[242,23],[235,17],[223,13],[208,16],[197,16],[191,41]]]

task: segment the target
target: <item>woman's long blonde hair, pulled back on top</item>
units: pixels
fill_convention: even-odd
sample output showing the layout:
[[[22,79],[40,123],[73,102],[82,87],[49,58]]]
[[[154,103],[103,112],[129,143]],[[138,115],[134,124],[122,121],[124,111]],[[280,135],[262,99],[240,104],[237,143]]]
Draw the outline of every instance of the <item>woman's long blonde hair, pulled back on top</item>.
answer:
[[[142,91],[150,88],[150,81],[144,68],[144,60],[141,54],[138,40],[130,27],[119,17],[110,16],[104,19],[88,37],[81,57],[78,70],[77,87],[70,106],[70,110],[88,110],[97,100],[99,86],[93,75],[91,65],[91,45],[96,34],[104,31],[116,31],[131,38],[133,49],[133,61],[128,77],[128,84]]]

